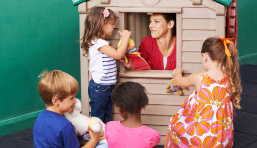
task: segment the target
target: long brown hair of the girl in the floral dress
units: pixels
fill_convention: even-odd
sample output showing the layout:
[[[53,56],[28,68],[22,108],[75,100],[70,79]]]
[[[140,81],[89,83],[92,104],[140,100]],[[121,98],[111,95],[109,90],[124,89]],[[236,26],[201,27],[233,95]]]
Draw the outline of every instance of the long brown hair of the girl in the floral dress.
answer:
[[[231,101],[236,108],[241,109],[240,95],[242,92],[242,87],[237,57],[238,50],[236,49],[233,42],[230,42],[227,45],[227,48],[231,54],[230,58],[225,54],[224,41],[222,41],[220,37],[209,37],[207,40],[204,41],[201,52],[207,52],[211,61],[225,64],[224,72],[230,83],[230,93],[232,97]]]

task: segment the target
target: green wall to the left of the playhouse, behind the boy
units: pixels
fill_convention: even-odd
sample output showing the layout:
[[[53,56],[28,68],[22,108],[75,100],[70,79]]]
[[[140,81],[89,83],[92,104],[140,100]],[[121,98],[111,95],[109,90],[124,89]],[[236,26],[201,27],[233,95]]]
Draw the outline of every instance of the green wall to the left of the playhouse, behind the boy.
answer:
[[[31,128],[46,108],[37,91],[42,70],[62,70],[80,83],[78,39],[71,0],[1,0],[0,136]]]

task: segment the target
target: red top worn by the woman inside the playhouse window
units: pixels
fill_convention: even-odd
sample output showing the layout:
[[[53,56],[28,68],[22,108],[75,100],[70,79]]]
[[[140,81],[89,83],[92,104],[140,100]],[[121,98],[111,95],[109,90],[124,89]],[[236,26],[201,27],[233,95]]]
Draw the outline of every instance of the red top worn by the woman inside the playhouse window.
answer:
[[[142,57],[149,64],[153,70],[164,70],[163,55],[159,49],[157,41],[152,36],[144,37],[140,46],[139,52],[142,53]],[[168,56],[167,65],[165,70],[173,70],[176,68],[177,61],[177,38],[172,53]]]

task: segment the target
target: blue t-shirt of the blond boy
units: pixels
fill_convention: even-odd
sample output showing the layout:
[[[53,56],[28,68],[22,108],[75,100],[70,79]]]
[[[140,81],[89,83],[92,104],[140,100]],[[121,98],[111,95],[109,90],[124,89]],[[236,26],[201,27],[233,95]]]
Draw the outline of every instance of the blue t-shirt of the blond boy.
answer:
[[[74,126],[58,113],[44,110],[33,126],[35,148],[79,148]]]

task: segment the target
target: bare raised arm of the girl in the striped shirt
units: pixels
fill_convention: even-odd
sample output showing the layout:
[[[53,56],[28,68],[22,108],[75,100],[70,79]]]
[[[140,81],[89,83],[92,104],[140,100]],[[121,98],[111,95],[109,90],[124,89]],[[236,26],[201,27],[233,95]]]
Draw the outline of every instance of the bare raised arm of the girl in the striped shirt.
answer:
[[[131,31],[129,32],[128,30],[123,30],[122,33],[120,31],[119,33],[122,36],[122,41],[118,49],[114,49],[109,45],[105,45],[100,47],[98,50],[113,59],[121,59],[128,47],[128,40],[131,35]]]

